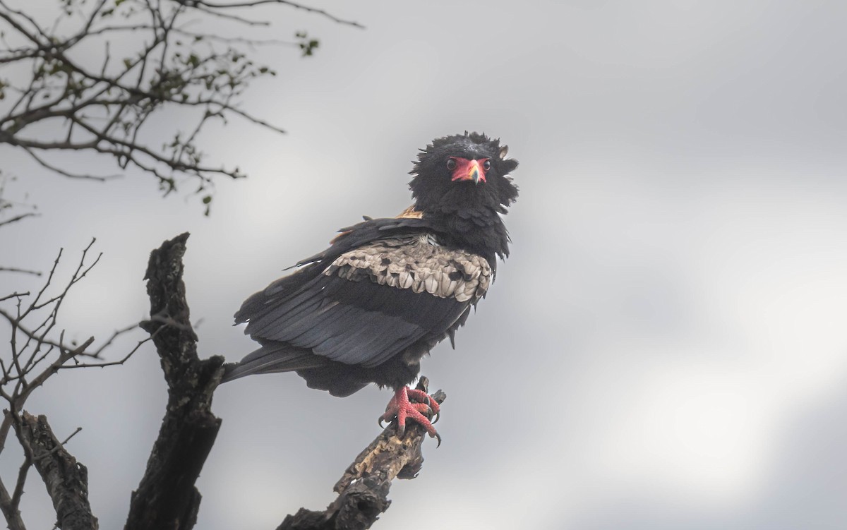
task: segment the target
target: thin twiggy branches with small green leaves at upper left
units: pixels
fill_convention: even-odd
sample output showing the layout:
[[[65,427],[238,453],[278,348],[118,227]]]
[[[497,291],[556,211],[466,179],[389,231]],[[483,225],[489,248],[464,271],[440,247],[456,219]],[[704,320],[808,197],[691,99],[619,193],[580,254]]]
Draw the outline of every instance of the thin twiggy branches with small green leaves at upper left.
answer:
[[[69,170],[53,162],[51,153],[86,151],[111,157],[121,172],[134,168],[152,174],[164,194],[192,180],[207,214],[214,179],[246,175],[238,166],[208,162],[198,143],[202,130],[213,120],[226,123],[237,116],[284,132],[240,107],[253,80],[276,75],[268,65],[255,63],[248,50],[290,46],[307,57],[319,45],[304,31],[298,31],[294,41],[241,36],[245,25],[268,25],[241,14],[276,4],[362,27],[285,0],[60,0],[63,13],[53,25],[10,3],[0,0],[0,65],[14,64],[26,75],[20,80],[0,78],[0,144],[18,147],[42,167],[69,178],[108,180],[119,175]],[[193,31],[197,17],[222,18],[240,30],[240,36]],[[74,27],[65,29],[68,25]],[[113,57],[118,55],[113,48],[130,36],[141,46]],[[91,49],[103,51],[92,57]],[[185,128],[162,141],[152,130],[152,118],[178,110],[187,116]]]

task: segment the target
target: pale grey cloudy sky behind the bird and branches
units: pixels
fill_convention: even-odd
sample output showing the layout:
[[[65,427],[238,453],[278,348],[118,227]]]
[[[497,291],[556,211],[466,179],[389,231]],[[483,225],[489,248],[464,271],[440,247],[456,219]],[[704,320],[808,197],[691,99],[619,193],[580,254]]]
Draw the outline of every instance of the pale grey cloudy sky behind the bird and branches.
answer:
[[[847,4],[320,5],[368,29],[275,21],[322,45],[260,52],[280,76],[245,106],[288,135],[234,119],[205,137],[251,175],[219,184],[211,218],[144,176],[69,182],[0,147],[9,193],[43,212],[0,230],[3,265],[46,268],[97,236],[102,263],[64,325],[105,336],[145,316],[149,251],[190,230],[202,354],[237,360],[247,295],[335,229],[406,207],[418,147],[484,131],[521,163],[512,257],[457,350],[424,360],[448,395],[444,443],[393,485],[379,527],[847,527]],[[6,274],[0,292],[33,281]],[[389,398],[293,374],[221,387],[198,527],[323,509]],[[103,528],[124,522],[164,400],[149,349],[30,400],[60,436],[83,428],[69,450]],[[48,502],[30,477],[25,517],[48,527]]]

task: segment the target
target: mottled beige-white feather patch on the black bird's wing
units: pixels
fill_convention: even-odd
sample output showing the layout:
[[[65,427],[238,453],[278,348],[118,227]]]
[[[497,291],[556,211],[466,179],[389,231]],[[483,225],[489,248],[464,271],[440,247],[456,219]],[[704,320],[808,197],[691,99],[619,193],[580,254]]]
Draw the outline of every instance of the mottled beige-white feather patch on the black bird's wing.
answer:
[[[484,257],[435,244],[429,235],[374,241],[341,254],[326,276],[359,280],[456,301],[479,301],[492,279]]]

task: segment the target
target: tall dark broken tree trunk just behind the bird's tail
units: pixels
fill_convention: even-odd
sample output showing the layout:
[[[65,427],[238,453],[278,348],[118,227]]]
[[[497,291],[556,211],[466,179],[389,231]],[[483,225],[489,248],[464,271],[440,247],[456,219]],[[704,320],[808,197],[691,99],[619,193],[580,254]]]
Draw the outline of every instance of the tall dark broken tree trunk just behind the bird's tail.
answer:
[[[224,359],[197,356],[191,328],[182,257],[188,233],[165,241],[150,254],[147,294],[152,335],[164,378],[168,406],[153,444],[147,470],[132,493],[125,530],[188,530],[197,522],[201,495],[194,486],[212,449],[220,419],[211,411]]]

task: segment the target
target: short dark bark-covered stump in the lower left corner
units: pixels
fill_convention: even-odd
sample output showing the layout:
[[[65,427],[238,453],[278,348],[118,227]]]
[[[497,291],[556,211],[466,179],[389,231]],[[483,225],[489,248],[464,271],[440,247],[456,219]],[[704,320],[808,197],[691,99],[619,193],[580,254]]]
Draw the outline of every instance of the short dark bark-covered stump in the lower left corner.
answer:
[[[8,413],[8,412],[7,412]],[[62,530],[97,530],[97,517],[88,502],[88,469],[64,449],[45,416],[23,411],[15,422],[28,457],[42,476]]]

